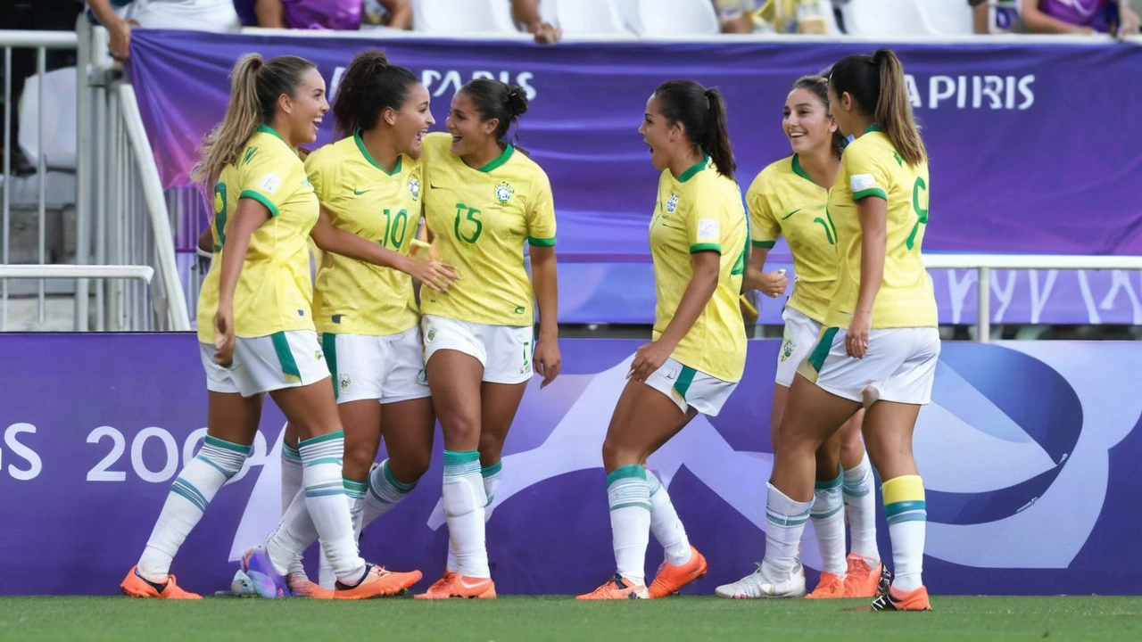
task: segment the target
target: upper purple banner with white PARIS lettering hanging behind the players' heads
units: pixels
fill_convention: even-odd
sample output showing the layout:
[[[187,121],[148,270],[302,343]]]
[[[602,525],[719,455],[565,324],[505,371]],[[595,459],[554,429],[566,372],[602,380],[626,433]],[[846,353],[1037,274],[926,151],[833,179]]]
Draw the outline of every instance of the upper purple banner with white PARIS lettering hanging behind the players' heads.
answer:
[[[789,153],[780,113],[789,85],[874,43],[569,43],[291,38],[139,31],[129,73],[167,186],[185,184],[195,150],[223,117],[227,73],[243,53],[317,63],[336,94],[353,54],[384,47],[433,95],[443,129],[453,91],[476,77],[528,89],[520,142],[549,174],[560,251],[613,263],[648,254],[657,175],[636,130],[670,78],[718,86],[730,107],[739,182]],[[1142,254],[1142,47],[895,45],[931,152],[925,249]],[[319,139],[330,139],[327,127]]]

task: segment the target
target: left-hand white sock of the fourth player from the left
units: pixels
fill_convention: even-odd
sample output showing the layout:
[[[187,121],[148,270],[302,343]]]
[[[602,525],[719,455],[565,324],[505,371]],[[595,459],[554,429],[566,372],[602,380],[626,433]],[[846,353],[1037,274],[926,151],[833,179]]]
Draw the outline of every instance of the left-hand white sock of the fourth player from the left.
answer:
[[[636,586],[645,586],[651,523],[646,470],[637,464],[616,468],[606,475],[606,499],[618,573]]]

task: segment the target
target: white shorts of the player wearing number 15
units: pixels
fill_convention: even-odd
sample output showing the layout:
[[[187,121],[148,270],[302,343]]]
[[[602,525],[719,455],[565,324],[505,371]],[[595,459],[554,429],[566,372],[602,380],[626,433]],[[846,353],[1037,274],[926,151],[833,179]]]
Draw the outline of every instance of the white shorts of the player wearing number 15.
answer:
[[[490,384],[522,384],[534,374],[536,350],[531,326],[486,326],[426,314],[420,319],[425,337],[425,363],[437,350],[471,354],[484,367]]]

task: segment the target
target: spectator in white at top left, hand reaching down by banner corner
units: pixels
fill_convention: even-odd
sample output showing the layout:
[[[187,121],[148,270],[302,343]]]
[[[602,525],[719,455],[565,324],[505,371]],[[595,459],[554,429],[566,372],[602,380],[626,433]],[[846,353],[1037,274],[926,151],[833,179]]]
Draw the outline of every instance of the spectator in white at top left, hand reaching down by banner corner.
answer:
[[[242,27],[233,0],[87,0],[87,6],[111,32],[111,56],[116,61],[130,54],[131,25],[190,31]]]

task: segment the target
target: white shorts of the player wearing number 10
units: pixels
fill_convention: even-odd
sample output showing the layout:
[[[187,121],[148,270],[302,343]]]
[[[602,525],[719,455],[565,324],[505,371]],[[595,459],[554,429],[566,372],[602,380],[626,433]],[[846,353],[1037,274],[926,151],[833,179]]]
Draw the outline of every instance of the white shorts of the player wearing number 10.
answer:
[[[333,375],[337,403],[377,399],[395,403],[428,396],[420,328],[384,337],[321,335],[321,347]]]

